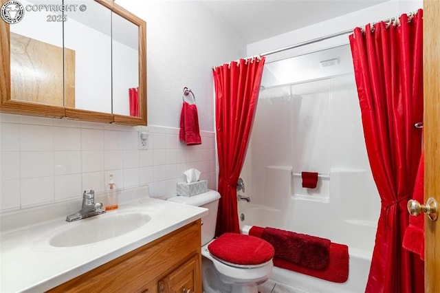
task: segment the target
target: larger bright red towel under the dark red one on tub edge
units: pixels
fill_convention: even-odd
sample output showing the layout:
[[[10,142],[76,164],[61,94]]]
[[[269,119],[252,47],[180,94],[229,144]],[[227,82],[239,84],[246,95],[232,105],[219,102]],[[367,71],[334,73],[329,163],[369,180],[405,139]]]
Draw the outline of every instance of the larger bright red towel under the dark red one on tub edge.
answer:
[[[265,228],[253,226],[249,235],[262,238]],[[275,250],[276,254],[276,250]],[[330,243],[327,266],[322,270],[307,268],[279,257],[274,257],[274,265],[278,268],[300,272],[319,279],[335,283],[344,283],[349,279],[349,247],[340,243]]]

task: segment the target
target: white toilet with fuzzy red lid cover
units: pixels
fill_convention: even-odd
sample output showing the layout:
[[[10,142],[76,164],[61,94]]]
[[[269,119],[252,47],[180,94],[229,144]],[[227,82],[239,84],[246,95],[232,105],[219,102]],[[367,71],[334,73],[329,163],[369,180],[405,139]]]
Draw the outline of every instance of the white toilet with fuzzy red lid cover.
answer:
[[[210,190],[192,197],[170,197],[168,201],[209,210],[201,218],[203,292],[257,293],[257,285],[272,273],[273,247],[263,239],[236,233],[214,239],[219,198],[217,191]]]

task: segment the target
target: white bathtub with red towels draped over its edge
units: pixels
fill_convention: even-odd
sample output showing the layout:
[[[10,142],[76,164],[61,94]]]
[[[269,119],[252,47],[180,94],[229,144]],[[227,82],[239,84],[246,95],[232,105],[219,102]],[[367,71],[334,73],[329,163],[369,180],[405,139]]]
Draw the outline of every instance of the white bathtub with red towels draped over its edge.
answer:
[[[286,210],[289,210],[288,208]],[[288,213],[288,212],[287,212]],[[273,292],[325,292],[325,293],[358,293],[365,292],[366,281],[368,279],[371,256],[373,253],[373,245],[371,241],[356,241],[356,239],[349,239],[341,237],[342,234],[335,229],[334,234],[326,228],[319,231],[316,227],[309,227],[310,231],[307,232],[307,225],[302,225],[303,228],[292,228],[292,225],[286,225],[282,222],[285,219],[286,212],[272,208],[270,206],[261,206],[257,204],[239,202],[239,221],[240,228],[243,234],[248,234],[249,229],[252,226],[261,227],[274,227],[285,230],[293,230],[294,232],[302,232],[309,235],[318,237],[325,237],[331,239],[336,243],[347,244],[349,246],[349,279],[345,283],[333,283],[322,279],[308,276],[306,274],[300,274],[283,268],[274,267],[272,276],[270,276],[270,282],[278,283],[283,290],[274,290]],[[310,218],[309,218],[310,219]],[[304,221],[303,221],[304,222]],[[305,226],[305,227],[304,227]],[[371,223],[360,222],[347,222],[347,227],[352,226],[357,230],[357,235],[364,233],[375,233],[375,226]],[[298,231],[300,230],[300,231]],[[351,229],[346,230],[347,233],[351,233]],[[353,238],[353,237],[351,237]],[[374,239],[374,238],[373,238]],[[357,245],[358,244],[358,245]],[[288,287],[285,287],[288,286]],[[289,288],[291,287],[291,288]],[[286,289],[287,288],[287,289]],[[287,291],[286,291],[287,290]]]

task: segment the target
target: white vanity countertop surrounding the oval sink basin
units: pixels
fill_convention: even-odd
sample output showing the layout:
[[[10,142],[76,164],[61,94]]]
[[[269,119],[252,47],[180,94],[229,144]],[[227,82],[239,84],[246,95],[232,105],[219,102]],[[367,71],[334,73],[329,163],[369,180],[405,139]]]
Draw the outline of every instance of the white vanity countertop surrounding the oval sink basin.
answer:
[[[49,243],[57,232],[80,221],[139,210],[148,213],[151,220],[124,235],[72,247],[54,247]],[[205,215],[208,215],[206,208],[147,197],[72,223],[62,217],[3,232],[0,234],[0,292],[49,290]]]

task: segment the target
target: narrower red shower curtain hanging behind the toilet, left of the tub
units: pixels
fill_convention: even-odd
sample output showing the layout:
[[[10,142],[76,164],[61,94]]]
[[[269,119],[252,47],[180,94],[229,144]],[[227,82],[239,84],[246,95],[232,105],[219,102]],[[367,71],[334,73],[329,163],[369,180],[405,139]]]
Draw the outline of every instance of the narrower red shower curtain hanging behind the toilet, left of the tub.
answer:
[[[213,69],[215,122],[219,153],[219,211],[216,235],[240,232],[236,182],[254,121],[265,58],[241,59]]]

